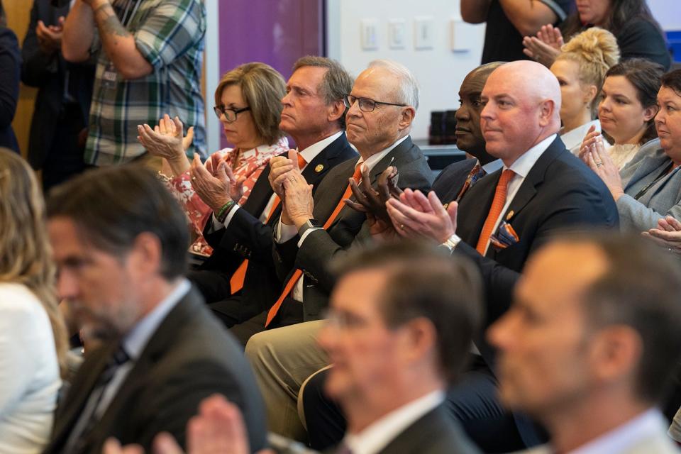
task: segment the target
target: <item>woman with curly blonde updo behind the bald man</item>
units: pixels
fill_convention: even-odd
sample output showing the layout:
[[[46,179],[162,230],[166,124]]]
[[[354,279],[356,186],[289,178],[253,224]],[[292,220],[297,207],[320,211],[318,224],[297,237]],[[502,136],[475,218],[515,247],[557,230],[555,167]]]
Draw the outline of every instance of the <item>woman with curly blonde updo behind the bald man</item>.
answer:
[[[589,128],[600,131],[598,94],[606,72],[619,61],[619,48],[614,35],[602,28],[583,31],[563,45],[550,70],[558,79],[560,94],[560,138],[573,154],[580,153],[580,145]]]

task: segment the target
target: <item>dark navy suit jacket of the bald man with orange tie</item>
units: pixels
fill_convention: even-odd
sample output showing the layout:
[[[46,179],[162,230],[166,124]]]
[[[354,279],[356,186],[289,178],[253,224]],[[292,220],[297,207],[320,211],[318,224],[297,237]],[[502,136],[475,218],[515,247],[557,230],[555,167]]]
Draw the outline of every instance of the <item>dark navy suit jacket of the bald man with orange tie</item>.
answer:
[[[457,234],[463,241],[456,250],[475,260],[485,279],[485,327],[509,308],[516,280],[527,258],[551,236],[585,226],[616,228],[619,225],[615,202],[605,184],[557,137],[539,157],[509,209],[502,214],[518,234],[519,242],[502,250],[490,245],[483,258],[475,245],[501,174],[502,170],[498,170],[478,180],[461,200],[458,211]],[[491,352],[483,350],[487,344],[481,341],[478,348],[489,363]]]

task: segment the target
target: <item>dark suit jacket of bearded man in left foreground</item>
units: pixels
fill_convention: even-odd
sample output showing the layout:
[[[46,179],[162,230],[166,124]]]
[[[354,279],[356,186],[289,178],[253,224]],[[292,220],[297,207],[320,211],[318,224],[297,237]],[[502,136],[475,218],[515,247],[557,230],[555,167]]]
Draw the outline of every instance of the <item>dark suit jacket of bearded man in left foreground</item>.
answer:
[[[113,353],[106,345],[88,355],[57,409],[52,441],[45,453],[62,453],[96,380]],[[250,446],[265,445],[265,416],[253,373],[242,348],[214,319],[192,289],[161,322],[116,396],[90,433],[88,453],[114,436],[150,451],[153,438],[168,431],[184,445],[185,428],[202,399],[223,394],[244,414]]]

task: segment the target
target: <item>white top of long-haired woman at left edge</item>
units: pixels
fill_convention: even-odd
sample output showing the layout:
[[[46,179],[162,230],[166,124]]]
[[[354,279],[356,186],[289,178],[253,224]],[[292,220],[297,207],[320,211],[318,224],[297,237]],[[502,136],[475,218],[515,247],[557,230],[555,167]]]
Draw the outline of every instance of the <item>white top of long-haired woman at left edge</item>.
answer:
[[[0,283],[0,311],[0,453],[40,453],[62,385],[52,325],[23,284]]]

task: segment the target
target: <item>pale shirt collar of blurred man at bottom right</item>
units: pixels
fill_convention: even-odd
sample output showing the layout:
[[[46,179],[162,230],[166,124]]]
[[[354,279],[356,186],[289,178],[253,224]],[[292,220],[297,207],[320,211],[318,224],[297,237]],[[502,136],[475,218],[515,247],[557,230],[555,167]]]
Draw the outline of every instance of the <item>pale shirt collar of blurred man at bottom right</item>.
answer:
[[[624,453],[631,445],[650,436],[664,434],[664,427],[665,419],[660,411],[649,409],[580,448],[570,451],[570,454]]]

